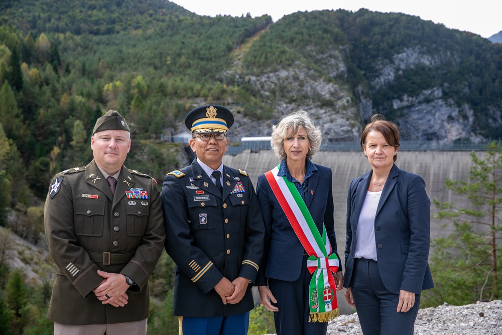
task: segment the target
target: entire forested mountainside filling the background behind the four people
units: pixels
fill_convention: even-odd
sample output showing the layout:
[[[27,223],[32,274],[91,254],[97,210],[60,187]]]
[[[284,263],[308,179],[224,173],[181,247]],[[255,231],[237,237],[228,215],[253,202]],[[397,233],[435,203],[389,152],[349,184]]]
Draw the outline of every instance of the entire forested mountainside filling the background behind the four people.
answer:
[[[126,165],[161,181],[186,164],[184,146],[171,137],[185,131],[189,110],[206,103],[235,113],[234,142],[270,135],[298,108],[328,142],[355,141],[376,112],[395,121],[404,140],[498,139],[502,45],[367,10],[296,13],[274,23],[198,16],[164,0],[3,0],[0,225],[43,242],[47,187],[58,171],[92,158],[90,133],[108,109],[132,131]],[[169,260],[161,264],[168,273]],[[0,268],[3,288],[1,261]],[[172,283],[162,278],[154,276],[153,295],[163,299]],[[30,303],[40,312],[46,296],[37,299]]]

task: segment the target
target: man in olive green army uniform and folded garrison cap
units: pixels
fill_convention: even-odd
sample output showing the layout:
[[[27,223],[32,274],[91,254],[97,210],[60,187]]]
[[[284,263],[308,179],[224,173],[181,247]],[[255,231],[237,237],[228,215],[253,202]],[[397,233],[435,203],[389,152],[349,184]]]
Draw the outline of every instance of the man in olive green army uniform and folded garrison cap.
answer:
[[[55,334],[146,333],[147,280],[165,230],[155,180],[123,166],[130,148],[126,121],[109,110],[94,126],[94,159],[51,183],[44,215],[57,265],[48,313]]]

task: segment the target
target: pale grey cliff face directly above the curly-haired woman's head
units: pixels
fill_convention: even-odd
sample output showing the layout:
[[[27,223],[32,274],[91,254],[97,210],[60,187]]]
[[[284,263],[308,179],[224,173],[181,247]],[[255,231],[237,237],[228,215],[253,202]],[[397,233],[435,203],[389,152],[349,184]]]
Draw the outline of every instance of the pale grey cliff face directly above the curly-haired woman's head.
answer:
[[[324,141],[356,139],[360,117],[356,101],[343,80],[347,71],[342,51],[319,53],[310,47],[308,52],[321,71],[308,68],[299,60],[288,69],[242,77],[235,70],[238,67],[234,63],[225,75],[238,76],[241,82],[252,86],[273,108],[274,117],[266,121],[236,118],[232,134],[239,138],[270,136],[272,126],[284,115],[304,109],[323,131]]]

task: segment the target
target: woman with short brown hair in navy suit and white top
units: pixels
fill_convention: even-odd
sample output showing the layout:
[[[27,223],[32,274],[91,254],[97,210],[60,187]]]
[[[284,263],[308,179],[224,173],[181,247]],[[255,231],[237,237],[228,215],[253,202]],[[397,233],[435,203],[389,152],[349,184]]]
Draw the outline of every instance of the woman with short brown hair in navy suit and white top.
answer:
[[[421,291],[434,287],[425,182],[394,164],[399,133],[382,115],[371,117],[360,144],[371,171],[348,190],[344,296],[364,335],[413,334]]]

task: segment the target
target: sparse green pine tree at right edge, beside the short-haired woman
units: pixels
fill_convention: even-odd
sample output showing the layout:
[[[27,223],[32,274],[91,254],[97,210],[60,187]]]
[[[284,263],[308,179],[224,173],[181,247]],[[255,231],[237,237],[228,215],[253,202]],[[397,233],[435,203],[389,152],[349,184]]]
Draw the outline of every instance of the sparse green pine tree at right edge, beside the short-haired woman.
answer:
[[[430,305],[473,303],[502,298],[500,215],[502,211],[502,146],[492,142],[483,156],[471,154],[467,181],[447,179],[445,186],[465,196],[469,208],[440,203],[437,217],[452,221],[455,232],[433,241],[431,257],[436,289],[425,292]],[[430,301],[429,301],[430,299]]]

